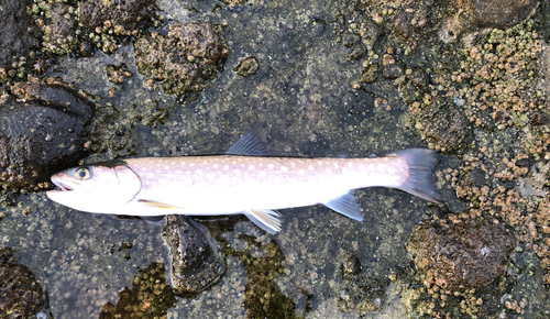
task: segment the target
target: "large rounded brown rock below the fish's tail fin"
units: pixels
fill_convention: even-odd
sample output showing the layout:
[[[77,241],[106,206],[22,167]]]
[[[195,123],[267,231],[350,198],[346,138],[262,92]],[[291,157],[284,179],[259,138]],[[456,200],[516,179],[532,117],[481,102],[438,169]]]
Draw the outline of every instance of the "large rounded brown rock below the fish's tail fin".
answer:
[[[408,243],[418,270],[441,288],[483,288],[504,275],[515,238],[502,226],[469,220],[427,221]]]

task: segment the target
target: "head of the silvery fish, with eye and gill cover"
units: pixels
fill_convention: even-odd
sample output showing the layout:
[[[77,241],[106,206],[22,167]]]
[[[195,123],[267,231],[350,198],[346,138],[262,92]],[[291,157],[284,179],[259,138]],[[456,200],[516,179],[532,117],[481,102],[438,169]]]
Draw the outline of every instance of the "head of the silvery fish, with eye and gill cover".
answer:
[[[138,174],[123,161],[82,165],[52,175],[59,190],[46,196],[70,208],[101,213],[118,213],[122,206],[140,193],[142,183]]]

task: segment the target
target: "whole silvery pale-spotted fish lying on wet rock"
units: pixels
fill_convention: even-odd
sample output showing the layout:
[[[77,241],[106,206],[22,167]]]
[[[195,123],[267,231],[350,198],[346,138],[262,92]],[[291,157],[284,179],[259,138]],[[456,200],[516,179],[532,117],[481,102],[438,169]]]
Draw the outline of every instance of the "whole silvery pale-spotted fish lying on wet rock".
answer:
[[[246,216],[261,229],[280,231],[277,210],[321,204],[362,221],[355,190],[396,188],[442,205],[431,176],[437,153],[408,148],[383,157],[274,156],[256,131],[224,154],[138,157],[81,165],[54,174],[47,197],[94,213]]]

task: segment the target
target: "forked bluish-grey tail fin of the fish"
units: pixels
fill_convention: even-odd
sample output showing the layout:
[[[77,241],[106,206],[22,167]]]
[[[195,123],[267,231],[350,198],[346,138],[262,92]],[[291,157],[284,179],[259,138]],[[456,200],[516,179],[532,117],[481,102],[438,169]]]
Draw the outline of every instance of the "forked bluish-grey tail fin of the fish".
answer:
[[[397,188],[442,205],[441,196],[431,182],[431,169],[437,164],[437,153],[429,148],[408,148],[394,154],[405,160],[409,167],[409,177]]]

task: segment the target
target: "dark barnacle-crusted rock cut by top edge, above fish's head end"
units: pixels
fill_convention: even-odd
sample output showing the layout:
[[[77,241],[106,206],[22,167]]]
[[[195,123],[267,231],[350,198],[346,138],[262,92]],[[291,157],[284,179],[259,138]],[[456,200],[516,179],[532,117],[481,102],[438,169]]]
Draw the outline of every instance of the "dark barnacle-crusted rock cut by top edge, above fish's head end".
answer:
[[[152,4],[151,0],[84,0],[80,22],[90,29],[107,26],[119,29],[117,34],[131,33],[151,25]]]

